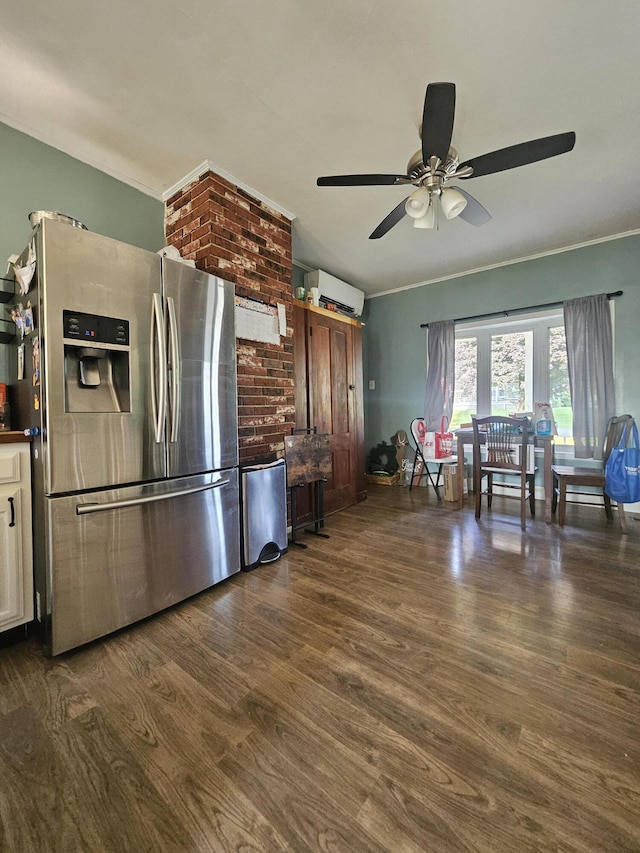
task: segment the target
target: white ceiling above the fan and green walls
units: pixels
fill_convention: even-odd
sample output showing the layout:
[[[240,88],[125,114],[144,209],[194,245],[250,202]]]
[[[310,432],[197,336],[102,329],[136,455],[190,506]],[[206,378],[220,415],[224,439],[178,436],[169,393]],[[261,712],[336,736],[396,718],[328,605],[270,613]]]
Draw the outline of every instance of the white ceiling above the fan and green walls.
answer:
[[[638,0],[20,0],[0,120],[161,198],[205,160],[295,215],[294,258],[372,295],[640,226]],[[461,160],[573,130],[569,154],[465,181],[481,228],[407,217],[426,85]],[[73,213],[73,211],[71,211]]]

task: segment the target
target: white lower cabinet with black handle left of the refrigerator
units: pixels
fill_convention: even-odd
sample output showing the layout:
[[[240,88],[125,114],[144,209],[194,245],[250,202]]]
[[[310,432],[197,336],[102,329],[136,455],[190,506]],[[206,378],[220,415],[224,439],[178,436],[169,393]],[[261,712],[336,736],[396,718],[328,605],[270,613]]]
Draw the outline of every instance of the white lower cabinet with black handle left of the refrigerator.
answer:
[[[30,465],[26,442],[0,445],[0,631],[33,619]]]

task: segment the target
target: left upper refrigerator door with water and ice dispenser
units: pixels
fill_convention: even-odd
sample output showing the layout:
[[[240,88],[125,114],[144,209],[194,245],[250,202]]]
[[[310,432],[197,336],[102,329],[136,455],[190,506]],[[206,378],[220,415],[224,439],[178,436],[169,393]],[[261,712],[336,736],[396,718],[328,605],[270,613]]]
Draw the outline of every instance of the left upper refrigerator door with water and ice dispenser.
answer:
[[[45,493],[164,477],[164,420],[154,422],[152,393],[162,403],[160,257],[53,220],[37,233],[42,363],[27,381],[43,414]],[[107,343],[92,336],[92,318],[115,323]],[[121,339],[118,324],[126,328]]]

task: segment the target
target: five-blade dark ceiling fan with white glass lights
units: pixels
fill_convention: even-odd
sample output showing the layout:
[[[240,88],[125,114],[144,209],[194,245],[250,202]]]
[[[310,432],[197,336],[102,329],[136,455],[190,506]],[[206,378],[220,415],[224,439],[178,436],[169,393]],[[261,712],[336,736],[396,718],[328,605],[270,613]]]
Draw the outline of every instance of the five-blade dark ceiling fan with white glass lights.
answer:
[[[468,180],[504,172],[538,160],[546,160],[571,151],[576,142],[573,131],[532,139],[510,145],[459,162],[458,152],[451,147],[456,105],[454,83],[430,83],[422,112],[422,147],[407,165],[406,175],[331,175],[318,178],[319,187],[385,186],[413,184],[410,196],[382,220],[369,235],[377,240],[408,215],[415,228],[438,228],[441,214],[447,219],[459,216],[471,225],[484,225],[491,219],[485,208],[460,187],[449,186],[452,180]]]

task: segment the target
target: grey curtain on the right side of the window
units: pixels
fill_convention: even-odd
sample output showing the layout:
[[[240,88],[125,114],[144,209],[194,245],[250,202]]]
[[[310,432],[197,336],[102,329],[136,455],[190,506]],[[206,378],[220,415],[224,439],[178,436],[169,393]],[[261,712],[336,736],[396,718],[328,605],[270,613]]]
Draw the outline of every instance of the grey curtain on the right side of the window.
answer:
[[[616,408],[611,311],[606,295],[565,302],[564,327],[576,459],[602,459],[607,423]]]

